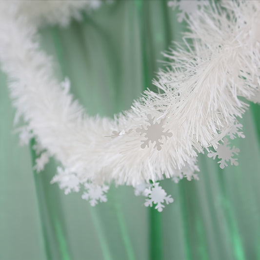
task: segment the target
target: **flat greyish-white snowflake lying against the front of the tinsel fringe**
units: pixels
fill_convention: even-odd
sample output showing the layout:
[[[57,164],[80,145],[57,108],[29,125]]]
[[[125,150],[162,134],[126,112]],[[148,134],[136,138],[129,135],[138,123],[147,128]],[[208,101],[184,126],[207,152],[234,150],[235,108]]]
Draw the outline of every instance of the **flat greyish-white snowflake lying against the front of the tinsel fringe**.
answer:
[[[157,147],[157,150],[160,151],[161,145],[163,144],[162,142],[160,142],[160,140],[163,138],[163,136],[167,139],[168,137],[172,137],[173,134],[169,132],[169,130],[163,132],[163,119],[160,120],[160,123],[154,123],[155,117],[152,118],[152,115],[150,114],[147,115],[147,119],[148,120],[146,121],[150,125],[148,125],[146,129],[143,127],[143,125],[141,126],[141,128],[136,129],[137,133],[140,133],[140,135],[144,134],[144,137],[146,138],[146,140],[141,141],[141,148],[144,149],[146,146],[149,147],[149,142],[151,141],[151,143],[155,142],[154,148]]]

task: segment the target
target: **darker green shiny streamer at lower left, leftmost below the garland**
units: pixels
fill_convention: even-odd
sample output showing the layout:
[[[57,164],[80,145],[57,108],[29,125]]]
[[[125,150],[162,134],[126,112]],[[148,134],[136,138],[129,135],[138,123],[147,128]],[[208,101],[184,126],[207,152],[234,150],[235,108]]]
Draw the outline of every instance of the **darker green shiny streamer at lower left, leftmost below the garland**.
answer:
[[[33,149],[35,140],[30,141],[32,164],[35,165],[37,155]],[[63,222],[60,200],[57,192],[46,192],[44,171],[40,174],[33,168],[33,175],[40,211],[41,228],[44,238],[45,252],[48,260],[70,260],[70,253],[66,241],[65,224]],[[49,182],[47,185],[50,185]],[[55,198],[55,200],[51,199]]]

